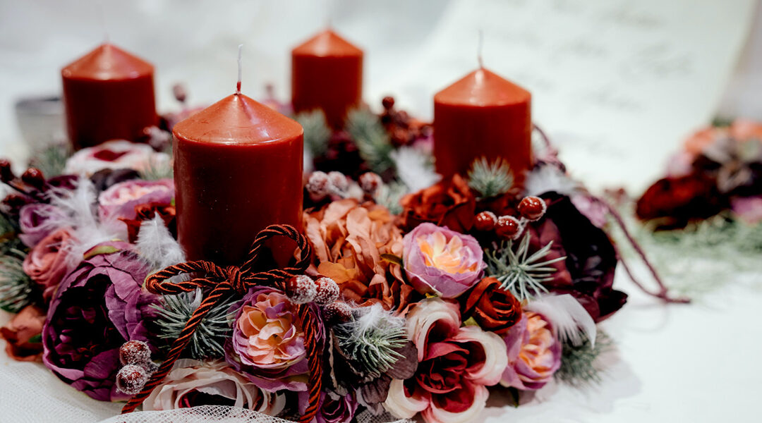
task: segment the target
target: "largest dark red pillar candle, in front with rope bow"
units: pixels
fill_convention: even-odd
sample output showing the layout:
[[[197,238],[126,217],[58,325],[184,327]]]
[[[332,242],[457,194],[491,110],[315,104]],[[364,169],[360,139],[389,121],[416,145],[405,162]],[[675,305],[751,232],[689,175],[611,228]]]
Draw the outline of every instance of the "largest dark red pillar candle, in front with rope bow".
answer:
[[[240,265],[269,224],[301,227],[303,130],[233,94],[174,126],[178,240],[187,258]],[[286,243],[274,244],[276,256]]]

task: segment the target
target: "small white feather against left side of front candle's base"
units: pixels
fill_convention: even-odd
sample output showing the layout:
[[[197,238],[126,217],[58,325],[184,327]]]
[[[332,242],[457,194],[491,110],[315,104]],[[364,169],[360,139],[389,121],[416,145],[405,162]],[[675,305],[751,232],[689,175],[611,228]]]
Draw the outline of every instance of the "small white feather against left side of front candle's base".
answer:
[[[185,261],[180,244],[172,237],[159,215],[140,224],[136,246],[140,258],[153,270]]]

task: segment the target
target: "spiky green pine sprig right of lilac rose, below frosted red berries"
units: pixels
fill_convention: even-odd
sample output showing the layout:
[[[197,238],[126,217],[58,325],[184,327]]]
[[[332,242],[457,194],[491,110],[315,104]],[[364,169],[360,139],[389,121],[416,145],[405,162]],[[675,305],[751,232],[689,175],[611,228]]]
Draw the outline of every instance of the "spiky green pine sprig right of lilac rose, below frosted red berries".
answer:
[[[545,260],[550,253],[552,241],[529,254],[530,234],[525,233],[518,246],[512,240],[502,243],[498,250],[485,249],[487,272],[501,282],[501,287],[511,291],[519,301],[529,300],[542,292],[548,292],[543,282],[551,281],[556,271],[552,265],[566,259],[565,256]],[[515,250],[514,250],[515,246]]]

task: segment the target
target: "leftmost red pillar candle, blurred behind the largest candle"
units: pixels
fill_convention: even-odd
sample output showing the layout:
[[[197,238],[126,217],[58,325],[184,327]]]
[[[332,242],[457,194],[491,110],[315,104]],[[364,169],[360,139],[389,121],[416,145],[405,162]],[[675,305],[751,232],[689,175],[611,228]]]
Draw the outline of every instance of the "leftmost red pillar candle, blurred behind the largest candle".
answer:
[[[102,44],[61,70],[66,126],[75,149],[110,139],[135,141],[158,116],[153,66]]]

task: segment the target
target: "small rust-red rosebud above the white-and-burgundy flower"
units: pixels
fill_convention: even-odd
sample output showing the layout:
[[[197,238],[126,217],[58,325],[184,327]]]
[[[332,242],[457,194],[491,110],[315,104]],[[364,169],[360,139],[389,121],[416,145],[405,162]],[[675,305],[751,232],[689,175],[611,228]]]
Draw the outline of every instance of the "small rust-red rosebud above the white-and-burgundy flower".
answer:
[[[504,335],[521,318],[521,304],[496,278],[483,278],[465,297],[463,317],[482,329]]]

